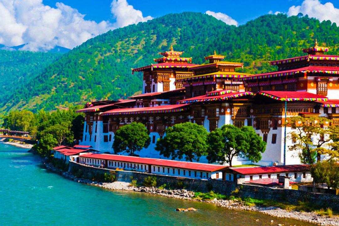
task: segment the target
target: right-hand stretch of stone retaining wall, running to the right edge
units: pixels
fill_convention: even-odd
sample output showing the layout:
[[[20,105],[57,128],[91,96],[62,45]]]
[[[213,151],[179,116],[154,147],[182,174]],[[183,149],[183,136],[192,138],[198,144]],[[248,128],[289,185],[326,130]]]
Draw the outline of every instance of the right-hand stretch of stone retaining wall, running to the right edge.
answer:
[[[333,194],[243,184],[239,186],[239,196],[255,199],[271,199],[291,204],[298,204],[299,201],[310,202],[323,207],[330,206],[333,209],[339,209],[339,196]]]

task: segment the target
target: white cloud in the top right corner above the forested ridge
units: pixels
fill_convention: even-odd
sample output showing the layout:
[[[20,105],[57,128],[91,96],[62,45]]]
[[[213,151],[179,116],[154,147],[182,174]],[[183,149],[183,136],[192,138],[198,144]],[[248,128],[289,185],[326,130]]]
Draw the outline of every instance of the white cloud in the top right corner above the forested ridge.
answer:
[[[301,5],[293,5],[288,9],[288,16],[296,16],[298,13],[323,20],[331,20],[339,23],[339,9],[331,2],[321,4],[319,0],[304,0]]]

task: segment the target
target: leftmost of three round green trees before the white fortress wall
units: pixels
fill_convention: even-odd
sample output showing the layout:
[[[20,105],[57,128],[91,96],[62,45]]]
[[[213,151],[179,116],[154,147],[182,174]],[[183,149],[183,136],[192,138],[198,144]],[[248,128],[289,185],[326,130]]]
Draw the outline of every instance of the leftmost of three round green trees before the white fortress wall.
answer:
[[[151,138],[146,127],[142,123],[132,122],[116,131],[113,149],[115,153],[126,152],[134,155],[136,151],[147,148],[150,143]]]

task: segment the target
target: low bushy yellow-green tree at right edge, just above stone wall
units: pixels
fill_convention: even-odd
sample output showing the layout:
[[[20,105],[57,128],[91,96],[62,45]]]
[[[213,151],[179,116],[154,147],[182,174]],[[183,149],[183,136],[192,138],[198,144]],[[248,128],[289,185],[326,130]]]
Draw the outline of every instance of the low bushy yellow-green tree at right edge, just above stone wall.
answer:
[[[339,165],[334,160],[317,162],[311,167],[315,183],[326,183],[327,188],[339,188]]]

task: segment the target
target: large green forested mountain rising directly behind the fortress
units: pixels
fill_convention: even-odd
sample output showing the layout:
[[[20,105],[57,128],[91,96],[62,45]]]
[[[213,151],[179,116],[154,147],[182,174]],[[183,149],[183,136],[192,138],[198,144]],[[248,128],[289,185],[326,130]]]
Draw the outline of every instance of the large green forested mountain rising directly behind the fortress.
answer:
[[[154,63],[171,44],[193,63],[203,63],[216,50],[227,61],[244,62],[243,72],[260,73],[275,70],[269,60],[302,55],[315,38],[331,47],[329,54],[339,55],[338,34],[335,23],[307,16],[265,15],[235,27],[201,13],[168,14],[86,41],[8,94],[0,107],[52,110],[132,95],[141,90],[142,73],[132,75],[131,68]]]

